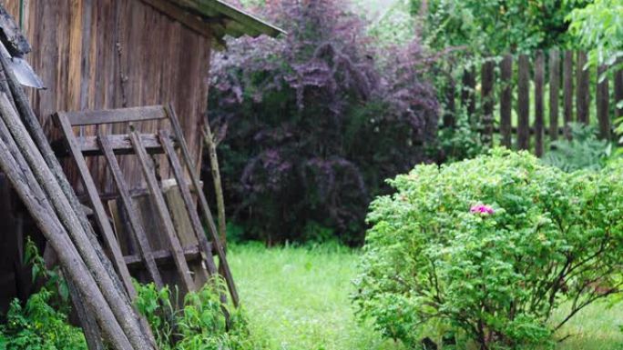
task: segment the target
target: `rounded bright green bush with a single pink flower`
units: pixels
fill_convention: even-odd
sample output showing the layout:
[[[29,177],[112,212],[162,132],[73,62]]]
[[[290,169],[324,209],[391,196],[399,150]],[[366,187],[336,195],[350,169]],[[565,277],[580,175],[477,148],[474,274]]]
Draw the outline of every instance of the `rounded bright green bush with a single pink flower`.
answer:
[[[617,167],[567,174],[495,149],[418,165],[390,183],[396,193],[377,198],[368,216],[353,295],[358,314],[387,337],[411,347],[431,336],[547,348],[577,312],[621,292]]]

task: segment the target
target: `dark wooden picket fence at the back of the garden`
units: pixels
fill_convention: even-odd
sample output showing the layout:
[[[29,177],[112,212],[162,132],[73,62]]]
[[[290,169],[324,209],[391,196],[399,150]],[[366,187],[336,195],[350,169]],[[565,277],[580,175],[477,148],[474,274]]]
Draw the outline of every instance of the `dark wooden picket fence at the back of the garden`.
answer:
[[[580,51],[538,51],[534,57],[506,55],[499,64],[492,60],[480,67],[479,88],[476,88],[475,71],[466,71],[462,81],[464,88],[458,97],[470,117],[480,115],[482,140],[488,145],[493,145],[497,139],[494,135],[499,134],[499,144],[532,149],[540,156],[544,152],[545,137],[552,141],[559,135],[570,137],[569,123],[589,124],[591,119],[597,123],[600,137],[609,139],[612,120],[623,115],[623,109],[616,107],[616,101],[623,100],[623,71],[598,82],[597,76],[605,72],[606,67],[583,69],[586,63],[587,54]],[[611,84],[613,78],[614,84]],[[596,85],[594,89],[591,84]],[[532,97],[531,88],[534,88]],[[516,94],[513,94],[514,89]],[[444,126],[455,124],[454,90],[450,85],[446,91]],[[516,101],[513,101],[514,95]],[[548,98],[547,116],[545,98]],[[499,108],[495,108],[496,105]],[[596,118],[590,118],[593,105]],[[516,123],[512,117],[514,107]]]

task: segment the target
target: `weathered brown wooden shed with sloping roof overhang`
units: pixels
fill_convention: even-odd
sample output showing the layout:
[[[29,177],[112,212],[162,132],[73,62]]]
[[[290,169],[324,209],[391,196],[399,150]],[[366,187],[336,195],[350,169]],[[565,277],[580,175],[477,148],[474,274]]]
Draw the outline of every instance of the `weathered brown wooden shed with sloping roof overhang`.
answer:
[[[202,125],[207,112],[209,59],[225,35],[271,35],[277,27],[221,0],[0,0],[32,46],[26,60],[45,89],[27,89],[37,117],[52,141],[59,133],[57,111],[111,109],[171,103],[179,115],[191,155],[200,164]],[[156,130],[154,125],[145,125]],[[96,126],[77,132],[95,135]],[[119,130],[128,125],[115,125]],[[106,192],[112,188],[97,160],[90,170]],[[138,173],[129,162],[121,166]],[[72,165],[66,174],[81,192]],[[140,181],[137,176],[137,181]],[[131,181],[130,181],[131,183]],[[6,185],[0,192],[8,194]],[[29,234],[18,204],[0,214],[0,312],[15,295],[25,295],[22,235]]]

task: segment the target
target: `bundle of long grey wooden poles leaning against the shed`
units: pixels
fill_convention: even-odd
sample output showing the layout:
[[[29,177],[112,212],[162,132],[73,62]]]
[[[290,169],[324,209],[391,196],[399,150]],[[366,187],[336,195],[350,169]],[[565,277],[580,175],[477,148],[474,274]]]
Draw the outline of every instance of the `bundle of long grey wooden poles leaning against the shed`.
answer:
[[[90,349],[156,349],[0,55],[0,169],[58,256]]]

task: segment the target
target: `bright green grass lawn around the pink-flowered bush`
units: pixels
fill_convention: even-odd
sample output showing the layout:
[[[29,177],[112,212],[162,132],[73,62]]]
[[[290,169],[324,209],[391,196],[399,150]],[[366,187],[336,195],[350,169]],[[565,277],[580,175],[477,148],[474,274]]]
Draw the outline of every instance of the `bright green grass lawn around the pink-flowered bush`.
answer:
[[[234,245],[229,261],[250,327],[270,350],[404,350],[360,325],[349,301],[358,253],[331,245],[271,248]],[[623,349],[623,307],[594,305],[565,332],[559,350]]]

